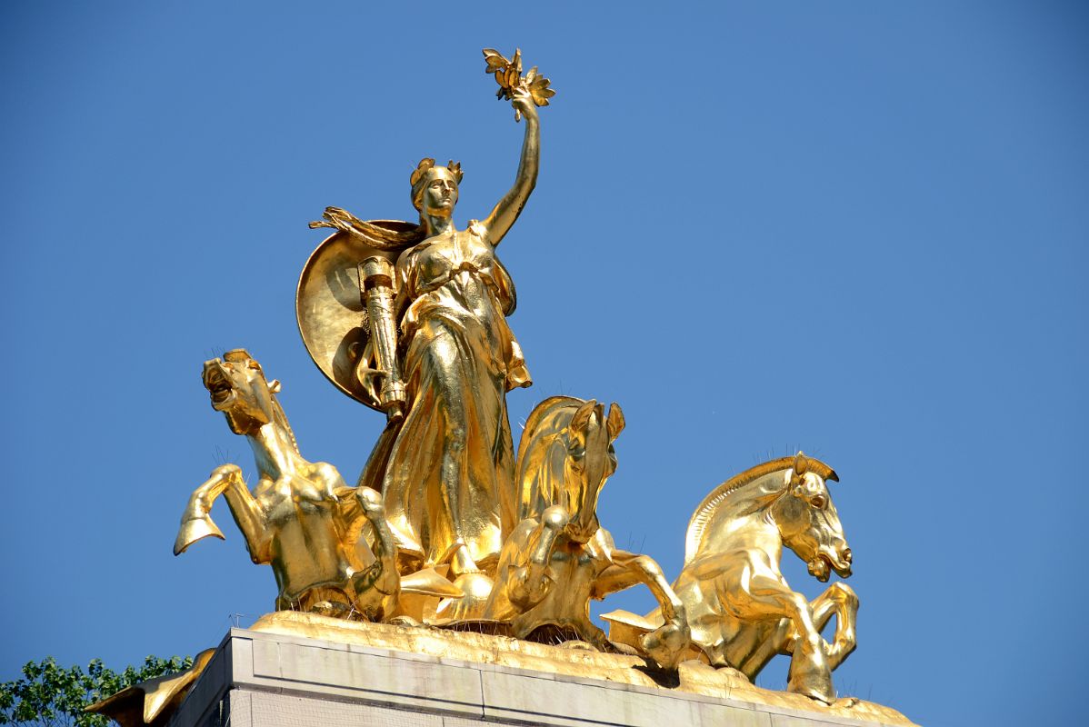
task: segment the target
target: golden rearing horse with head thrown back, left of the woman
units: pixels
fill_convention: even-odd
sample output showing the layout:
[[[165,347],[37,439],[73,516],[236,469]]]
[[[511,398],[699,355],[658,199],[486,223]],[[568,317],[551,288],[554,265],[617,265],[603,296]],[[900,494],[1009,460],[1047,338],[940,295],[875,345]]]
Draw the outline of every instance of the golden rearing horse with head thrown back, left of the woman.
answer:
[[[277,609],[381,620],[395,615],[402,591],[461,595],[435,571],[401,578],[381,496],[347,486],[332,465],[303,458],[276,397],[279,382],[266,381],[248,353],[238,348],[206,361],[203,380],[212,408],[249,440],[260,479],[250,492],[237,465],[216,468],[189,497],[174,555],[208,535],[223,538],[210,517],[223,494],[253,562],[272,566]],[[363,538],[368,525],[369,545]]]

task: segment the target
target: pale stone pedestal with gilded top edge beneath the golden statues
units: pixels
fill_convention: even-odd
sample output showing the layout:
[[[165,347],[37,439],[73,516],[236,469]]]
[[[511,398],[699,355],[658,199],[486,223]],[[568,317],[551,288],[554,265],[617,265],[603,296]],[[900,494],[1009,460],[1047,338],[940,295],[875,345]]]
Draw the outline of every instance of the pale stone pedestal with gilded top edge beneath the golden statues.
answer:
[[[397,648],[400,646],[400,648]],[[737,681],[741,679],[742,681]],[[479,633],[272,614],[231,629],[171,727],[910,725],[881,705],[824,706],[687,662]]]

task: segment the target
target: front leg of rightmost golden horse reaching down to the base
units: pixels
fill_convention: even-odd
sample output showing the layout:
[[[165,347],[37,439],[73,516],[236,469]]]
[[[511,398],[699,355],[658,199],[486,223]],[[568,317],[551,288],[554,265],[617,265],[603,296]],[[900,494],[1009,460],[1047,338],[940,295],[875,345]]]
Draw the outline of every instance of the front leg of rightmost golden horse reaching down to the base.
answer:
[[[791,591],[778,580],[757,576],[749,582],[746,596],[738,600],[732,609],[743,620],[786,618],[793,629],[793,639],[785,639],[793,642],[787,691],[828,704],[835,701],[824,640],[821,639],[820,630],[813,621],[812,607],[805,596]],[[783,625],[780,624],[775,637],[782,630]],[[772,638],[769,641],[774,644],[776,640]]]

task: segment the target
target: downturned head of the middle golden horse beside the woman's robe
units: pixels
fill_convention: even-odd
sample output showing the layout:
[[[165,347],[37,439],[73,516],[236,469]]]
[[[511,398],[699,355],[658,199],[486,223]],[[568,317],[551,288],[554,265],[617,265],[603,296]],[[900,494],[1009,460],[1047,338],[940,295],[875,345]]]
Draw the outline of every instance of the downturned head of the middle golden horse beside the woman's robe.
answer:
[[[570,514],[565,532],[576,543],[586,543],[598,531],[598,495],[616,471],[613,442],[624,429],[624,412],[613,403],[605,416],[597,401],[580,405],[567,424],[567,457],[561,502]]]

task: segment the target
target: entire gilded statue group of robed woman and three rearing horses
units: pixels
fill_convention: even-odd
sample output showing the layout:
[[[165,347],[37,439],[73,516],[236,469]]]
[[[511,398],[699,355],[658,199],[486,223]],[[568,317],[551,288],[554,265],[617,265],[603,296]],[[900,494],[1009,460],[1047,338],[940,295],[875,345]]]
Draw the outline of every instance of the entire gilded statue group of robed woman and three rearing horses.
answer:
[[[858,601],[839,582],[807,601],[780,571],[785,545],[821,581],[851,575],[830,467],[798,453],[715,488],[692,517],[671,583],[598,522],[624,429],[619,405],[547,398],[515,456],[506,392],[531,382],[497,248],[537,182],[538,107],[553,91],[536,69],[522,74],[521,53],[485,58],[498,96],[525,122],[514,185],[486,218],[456,229],[461,165],[424,159],[409,178],[418,224],[332,207],[311,223],[335,232],[299,280],[303,341],[333,384],[387,417],[358,482],[305,459],[279,382],[247,352],[227,352],[205,364],[204,385],[249,440],[258,481],[250,490],[237,466],[217,468],[193,493],[174,553],[223,537],[209,517],[222,494],[254,563],[272,566],[278,611],[567,642],[662,669],[699,660],[749,679],[786,654],[788,690],[833,702]],[[658,601],[653,613],[608,614],[609,634],[591,623],[590,599],[637,583]],[[821,631],[833,615],[829,642]]]

